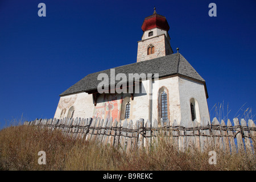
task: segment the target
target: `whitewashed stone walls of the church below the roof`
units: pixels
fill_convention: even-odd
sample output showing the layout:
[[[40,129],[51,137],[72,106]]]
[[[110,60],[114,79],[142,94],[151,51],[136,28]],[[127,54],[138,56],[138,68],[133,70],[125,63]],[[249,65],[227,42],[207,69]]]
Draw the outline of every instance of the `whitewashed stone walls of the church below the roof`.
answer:
[[[141,83],[142,89],[146,93],[134,93],[134,100],[131,100],[131,94],[119,94],[117,95],[117,101],[122,99],[122,105],[119,106],[119,116],[123,119],[125,113],[125,105],[127,101],[130,102],[130,118],[133,121],[137,121],[139,118],[144,119],[159,119],[159,89],[165,87],[168,93],[168,109],[169,119],[172,123],[176,119],[179,124],[181,119],[184,121],[191,121],[191,108],[190,100],[194,98],[197,102],[196,119],[198,122],[201,118],[205,117],[209,119],[209,110],[207,105],[207,98],[205,95],[204,85],[199,82],[188,80],[187,78],[174,76],[160,78],[158,82],[154,82],[153,85],[153,100],[149,100],[149,85],[150,80],[144,80]],[[157,88],[155,89],[155,86]],[[128,99],[128,98],[129,99]],[[107,101],[104,101],[104,94],[101,94],[97,100],[97,106],[93,104],[92,94],[78,93],[70,96],[60,97],[59,104],[56,109],[55,118],[64,118],[68,115],[68,110],[71,106],[75,107],[74,118],[89,118],[93,117],[95,107],[104,106]],[[65,114],[61,115],[61,110],[66,109]],[[198,114],[200,113],[200,114]],[[160,125],[160,123],[159,123]]]

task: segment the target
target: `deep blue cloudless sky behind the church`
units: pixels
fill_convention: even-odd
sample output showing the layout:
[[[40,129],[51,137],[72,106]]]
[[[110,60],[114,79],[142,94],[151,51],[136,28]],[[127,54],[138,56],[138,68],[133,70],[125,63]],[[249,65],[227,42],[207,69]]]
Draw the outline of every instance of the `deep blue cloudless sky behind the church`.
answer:
[[[38,4],[46,4],[46,17]],[[209,3],[217,17],[210,17]],[[164,15],[171,46],[206,80],[209,110],[255,114],[256,1],[0,1],[0,129],[52,118],[59,94],[89,73],[136,62],[146,16]],[[214,116],[214,109],[210,111]],[[254,118],[255,119],[255,118]]]

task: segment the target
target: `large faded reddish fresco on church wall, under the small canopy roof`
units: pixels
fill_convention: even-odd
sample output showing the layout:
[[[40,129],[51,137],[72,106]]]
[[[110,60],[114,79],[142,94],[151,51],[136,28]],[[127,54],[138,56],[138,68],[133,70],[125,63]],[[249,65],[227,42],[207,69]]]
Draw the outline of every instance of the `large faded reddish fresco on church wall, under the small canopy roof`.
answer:
[[[122,97],[118,98],[116,94],[104,94],[104,102],[98,103],[94,107],[93,117],[100,117],[101,119],[110,119],[111,117],[120,119],[122,106]]]

